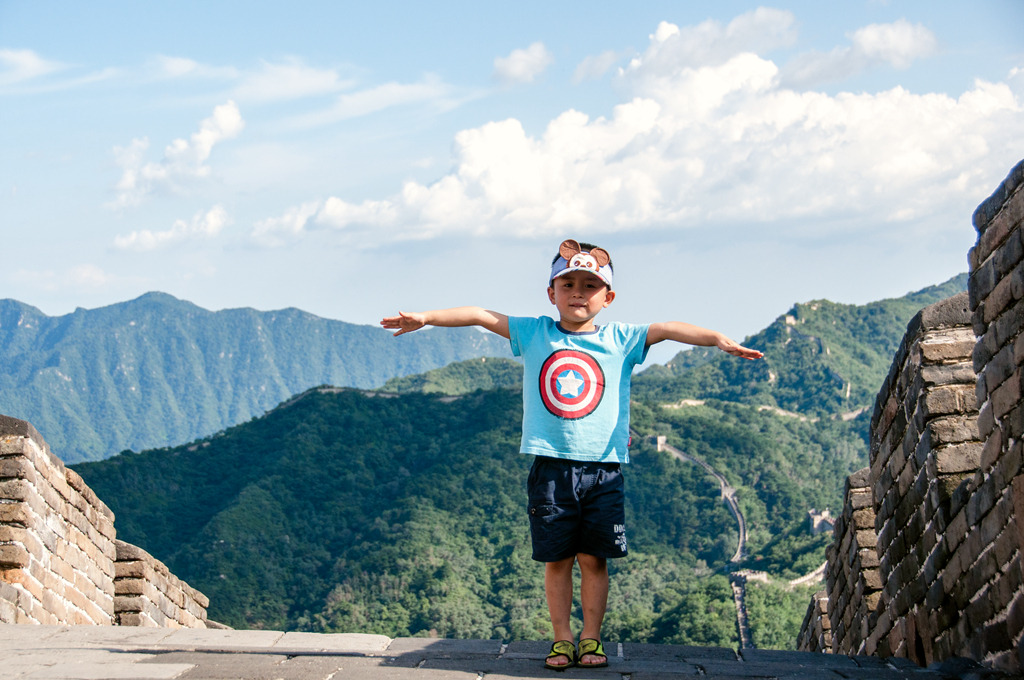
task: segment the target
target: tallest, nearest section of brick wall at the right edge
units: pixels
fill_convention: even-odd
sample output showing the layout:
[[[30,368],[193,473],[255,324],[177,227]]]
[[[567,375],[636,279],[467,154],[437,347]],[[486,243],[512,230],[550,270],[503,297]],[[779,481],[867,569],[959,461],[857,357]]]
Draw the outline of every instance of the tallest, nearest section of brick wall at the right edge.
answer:
[[[969,532],[950,560],[963,577],[954,589],[968,622],[950,636],[953,653],[1020,668],[1016,646],[1024,629],[1021,537],[1021,364],[1024,363],[1024,162],[978,207],[978,241],[968,256],[974,331],[978,430],[985,447],[978,472],[961,490]],[[1016,492],[1016,493],[1015,493]],[[1016,502],[1015,502],[1016,501]],[[963,629],[963,630],[961,630]]]

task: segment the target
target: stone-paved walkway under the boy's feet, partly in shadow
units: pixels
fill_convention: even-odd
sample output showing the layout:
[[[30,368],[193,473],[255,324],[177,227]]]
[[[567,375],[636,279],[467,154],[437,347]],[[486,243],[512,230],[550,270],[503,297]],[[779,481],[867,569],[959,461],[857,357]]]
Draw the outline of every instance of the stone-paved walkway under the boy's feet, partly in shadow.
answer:
[[[546,671],[547,642],[278,631],[0,625],[0,680],[942,680],[906,660],[717,647],[607,644],[609,667]]]

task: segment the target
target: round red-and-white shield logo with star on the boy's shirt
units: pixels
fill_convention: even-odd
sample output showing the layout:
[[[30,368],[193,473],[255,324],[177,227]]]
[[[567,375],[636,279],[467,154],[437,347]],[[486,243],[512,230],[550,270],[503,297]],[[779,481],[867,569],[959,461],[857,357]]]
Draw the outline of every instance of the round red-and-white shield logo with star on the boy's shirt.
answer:
[[[604,371],[586,352],[559,349],[541,367],[541,399],[553,416],[566,420],[594,413],[604,395]]]

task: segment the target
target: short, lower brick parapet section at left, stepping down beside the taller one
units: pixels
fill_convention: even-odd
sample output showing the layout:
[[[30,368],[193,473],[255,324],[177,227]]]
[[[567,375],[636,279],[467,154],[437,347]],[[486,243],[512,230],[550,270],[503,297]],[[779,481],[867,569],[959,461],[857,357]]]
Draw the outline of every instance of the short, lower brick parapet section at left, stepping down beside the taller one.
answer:
[[[141,548],[117,542],[114,611],[121,626],[206,628],[210,600]]]

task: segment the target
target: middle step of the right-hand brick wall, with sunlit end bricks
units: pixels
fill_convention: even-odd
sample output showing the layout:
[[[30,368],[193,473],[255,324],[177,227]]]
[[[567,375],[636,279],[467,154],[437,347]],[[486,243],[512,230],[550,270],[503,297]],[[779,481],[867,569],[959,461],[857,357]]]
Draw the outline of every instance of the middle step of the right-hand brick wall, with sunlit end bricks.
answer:
[[[958,617],[943,575],[968,524],[954,496],[978,469],[975,346],[968,295],[929,307],[907,327],[876,400],[870,434],[876,552],[884,588],[863,651],[927,665]],[[943,608],[943,602],[945,602]]]

